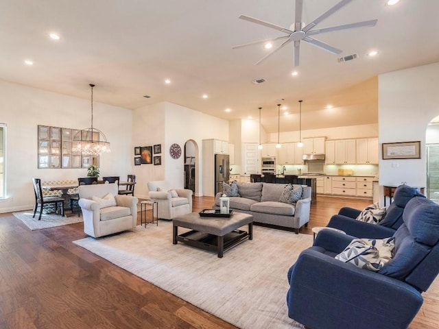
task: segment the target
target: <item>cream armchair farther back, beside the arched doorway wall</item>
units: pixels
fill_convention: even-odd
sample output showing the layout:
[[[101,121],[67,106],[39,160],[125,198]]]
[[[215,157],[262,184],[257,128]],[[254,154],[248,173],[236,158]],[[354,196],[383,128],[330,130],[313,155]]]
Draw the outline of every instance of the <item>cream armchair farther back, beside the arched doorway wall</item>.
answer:
[[[148,190],[150,199],[157,202],[158,218],[173,219],[192,212],[192,190],[171,188],[165,180],[148,182]],[[177,196],[172,197],[171,190],[176,191]]]

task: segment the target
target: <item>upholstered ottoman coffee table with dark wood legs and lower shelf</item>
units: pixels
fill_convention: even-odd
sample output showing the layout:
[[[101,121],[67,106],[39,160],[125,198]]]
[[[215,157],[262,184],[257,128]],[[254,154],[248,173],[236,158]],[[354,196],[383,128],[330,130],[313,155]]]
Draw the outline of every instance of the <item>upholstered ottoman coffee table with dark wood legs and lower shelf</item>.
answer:
[[[237,230],[248,225],[248,232]],[[241,243],[248,237],[253,239],[253,216],[242,212],[233,212],[230,217],[200,217],[198,212],[172,219],[172,243],[178,241],[205,250],[216,251],[222,258],[224,250]],[[178,227],[191,231],[178,235]]]

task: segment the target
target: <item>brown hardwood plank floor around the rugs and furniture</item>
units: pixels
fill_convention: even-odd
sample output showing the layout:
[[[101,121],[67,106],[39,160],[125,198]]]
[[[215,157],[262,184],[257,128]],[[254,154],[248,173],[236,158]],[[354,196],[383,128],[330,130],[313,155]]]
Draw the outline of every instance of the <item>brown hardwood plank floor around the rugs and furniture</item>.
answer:
[[[300,232],[325,226],[342,206],[370,203],[318,196]],[[213,197],[194,197],[193,211],[212,204]],[[235,328],[74,245],[86,236],[82,228],[30,231],[11,213],[0,214],[0,329]],[[410,328],[439,328],[438,280],[424,298]]]

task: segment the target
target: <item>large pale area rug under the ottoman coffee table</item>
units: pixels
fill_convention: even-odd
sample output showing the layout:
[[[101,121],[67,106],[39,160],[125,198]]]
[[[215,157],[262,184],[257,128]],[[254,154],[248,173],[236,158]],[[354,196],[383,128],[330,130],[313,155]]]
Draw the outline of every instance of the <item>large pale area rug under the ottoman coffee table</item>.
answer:
[[[179,228],[179,234],[184,230]],[[254,226],[244,241],[217,258],[172,244],[172,223],[160,221],[77,245],[239,328],[303,328],[287,315],[287,271],[313,237]]]

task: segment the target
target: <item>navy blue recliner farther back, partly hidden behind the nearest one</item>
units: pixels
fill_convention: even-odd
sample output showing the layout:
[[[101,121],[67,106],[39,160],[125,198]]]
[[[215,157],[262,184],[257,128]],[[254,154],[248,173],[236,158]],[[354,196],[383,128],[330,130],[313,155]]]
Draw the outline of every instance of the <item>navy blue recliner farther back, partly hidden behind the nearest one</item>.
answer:
[[[388,206],[384,218],[377,224],[357,221],[356,218],[361,210],[343,207],[337,215],[329,220],[329,228],[337,228],[348,235],[358,238],[382,239],[392,236],[403,223],[403,210],[412,197],[423,197],[416,188],[400,185],[394,192],[394,202]]]

